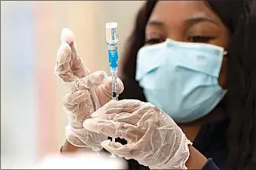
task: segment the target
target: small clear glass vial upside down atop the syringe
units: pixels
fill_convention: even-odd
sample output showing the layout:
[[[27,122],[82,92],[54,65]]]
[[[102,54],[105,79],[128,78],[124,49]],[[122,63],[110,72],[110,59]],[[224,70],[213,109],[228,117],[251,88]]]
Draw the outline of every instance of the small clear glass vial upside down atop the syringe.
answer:
[[[106,42],[116,44],[118,42],[117,23],[106,23]]]

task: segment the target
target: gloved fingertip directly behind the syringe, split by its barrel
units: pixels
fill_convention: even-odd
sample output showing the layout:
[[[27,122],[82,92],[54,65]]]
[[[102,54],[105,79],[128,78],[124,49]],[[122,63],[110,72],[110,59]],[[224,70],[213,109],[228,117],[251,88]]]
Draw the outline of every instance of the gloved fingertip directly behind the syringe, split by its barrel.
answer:
[[[112,78],[108,77],[106,83],[98,86],[98,98],[101,99],[101,105],[105,105],[112,98]],[[120,78],[117,78],[117,95],[124,91],[124,84]]]

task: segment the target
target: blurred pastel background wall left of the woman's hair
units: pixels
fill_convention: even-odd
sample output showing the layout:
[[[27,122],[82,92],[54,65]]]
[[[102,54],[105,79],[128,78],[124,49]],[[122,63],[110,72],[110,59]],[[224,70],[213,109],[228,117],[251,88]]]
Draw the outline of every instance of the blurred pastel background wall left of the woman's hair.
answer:
[[[1,168],[57,153],[67,124],[54,74],[61,29],[76,34],[83,63],[109,73],[105,23],[116,21],[120,56],[142,1],[1,1]],[[12,167],[4,167],[11,163]]]

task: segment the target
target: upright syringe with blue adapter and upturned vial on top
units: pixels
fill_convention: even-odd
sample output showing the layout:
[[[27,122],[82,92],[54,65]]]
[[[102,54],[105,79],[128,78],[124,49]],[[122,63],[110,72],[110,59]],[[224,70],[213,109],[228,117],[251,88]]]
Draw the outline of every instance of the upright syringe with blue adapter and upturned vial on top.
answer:
[[[112,99],[118,100],[117,94],[117,60],[118,60],[118,33],[117,33],[117,23],[106,23],[106,42],[109,52],[109,66],[112,77]],[[113,143],[115,138],[112,138]],[[115,157],[112,153],[112,157]]]

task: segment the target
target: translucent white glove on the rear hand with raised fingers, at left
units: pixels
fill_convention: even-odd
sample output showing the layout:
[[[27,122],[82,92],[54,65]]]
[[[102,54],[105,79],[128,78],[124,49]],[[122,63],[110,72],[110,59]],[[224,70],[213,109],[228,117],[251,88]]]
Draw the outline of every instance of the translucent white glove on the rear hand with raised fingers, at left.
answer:
[[[61,31],[61,42],[54,70],[69,88],[63,103],[69,118],[69,125],[65,128],[66,139],[73,146],[100,150],[100,143],[107,136],[83,128],[83,121],[91,118],[95,110],[111,99],[111,78],[104,71],[91,74],[87,67],[83,67],[82,60],[76,53],[72,31],[64,28]],[[120,94],[123,90],[122,81],[117,79],[117,93]]]

